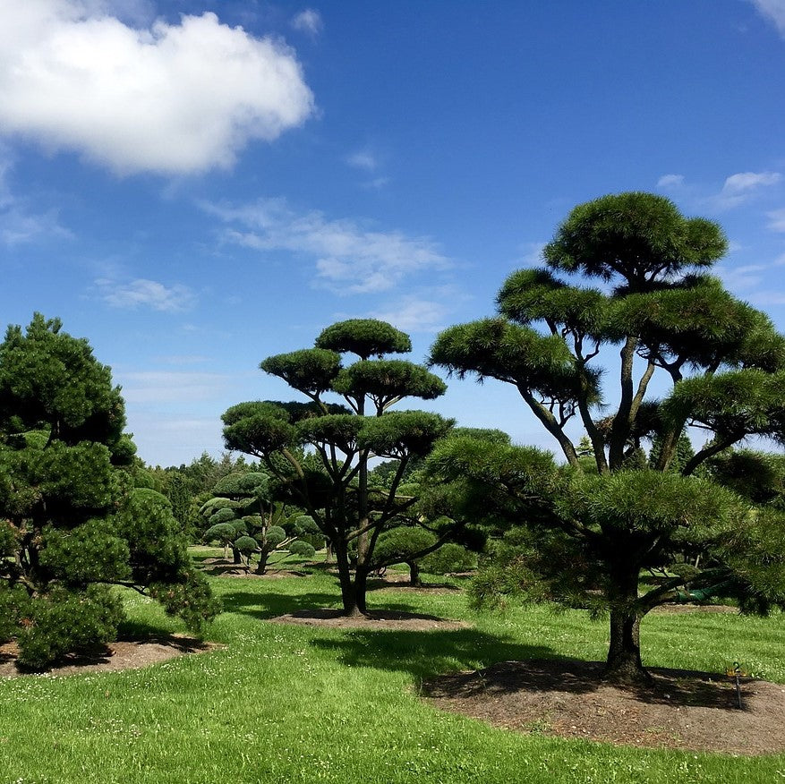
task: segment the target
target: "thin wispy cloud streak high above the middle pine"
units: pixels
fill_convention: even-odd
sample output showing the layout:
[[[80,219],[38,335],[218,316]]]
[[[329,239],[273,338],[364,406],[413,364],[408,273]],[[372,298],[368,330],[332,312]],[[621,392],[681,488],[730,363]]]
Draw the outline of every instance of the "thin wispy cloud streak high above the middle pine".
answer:
[[[317,277],[337,294],[386,291],[415,273],[450,266],[427,237],[378,232],[321,212],[296,214],[284,200],[260,200],[232,208],[203,205],[227,224],[227,242],[258,251],[290,251],[315,258]]]

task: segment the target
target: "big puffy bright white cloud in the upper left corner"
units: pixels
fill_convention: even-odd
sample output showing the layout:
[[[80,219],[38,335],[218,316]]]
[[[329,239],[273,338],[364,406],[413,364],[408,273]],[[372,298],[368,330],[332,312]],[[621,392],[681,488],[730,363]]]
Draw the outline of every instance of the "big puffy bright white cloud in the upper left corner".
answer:
[[[116,0],[115,0],[116,2]],[[125,0],[126,16],[144,3]],[[100,0],[0,0],[0,132],[120,174],[231,166],[311,115],[294,52],[214,13],[134,29]]]

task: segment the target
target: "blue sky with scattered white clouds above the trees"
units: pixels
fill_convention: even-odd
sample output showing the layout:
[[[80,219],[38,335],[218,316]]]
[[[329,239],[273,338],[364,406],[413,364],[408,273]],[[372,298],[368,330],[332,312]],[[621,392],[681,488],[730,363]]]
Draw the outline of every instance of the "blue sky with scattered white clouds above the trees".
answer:
[[[488,315],[577,203],[718,220],[785,328],[785,0],[0,0],[0,322],[88,337],[152,464],[335,320]],[[511,391],[429,406],[553,447]]]

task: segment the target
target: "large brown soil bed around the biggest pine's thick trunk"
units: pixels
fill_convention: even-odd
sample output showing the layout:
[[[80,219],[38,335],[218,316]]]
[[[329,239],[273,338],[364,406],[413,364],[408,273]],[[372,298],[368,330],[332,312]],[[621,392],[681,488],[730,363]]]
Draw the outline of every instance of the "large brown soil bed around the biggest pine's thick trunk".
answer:
[[[723,754],[785,752],[785,684],[742,678],[739,710],[730,678],[649,671],[653,688],[621,688],[601,681],[599,661],[503,661],[429,678],[422,696],[443,710],[527,733]]]

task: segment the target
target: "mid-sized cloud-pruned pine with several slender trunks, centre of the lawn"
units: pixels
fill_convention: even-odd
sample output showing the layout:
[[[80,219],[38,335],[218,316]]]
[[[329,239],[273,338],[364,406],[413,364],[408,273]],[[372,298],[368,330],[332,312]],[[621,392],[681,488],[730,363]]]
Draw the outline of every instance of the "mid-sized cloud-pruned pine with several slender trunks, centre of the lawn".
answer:
[[[332,542],[348,615],[365,612],[381,533],[401,524],[416,501],[397,492],[408,464],[426,455],[451,426],[435,413],[389,411],[405,397],[428,400],[445,390],[421,365],[384,358],[408,351],[409,338],[384,321],[338,322],[322,331],[313,348],[260,364],[307,403],[241,403],[223,417],[226,447],[259,457],[277,478],[281,496],[303,508]],[[358,359],[345,366],[342,354]],[[329,393],[346,405],[328,403]],[[388,488],[369,487],[374,457],[397,461]]]

